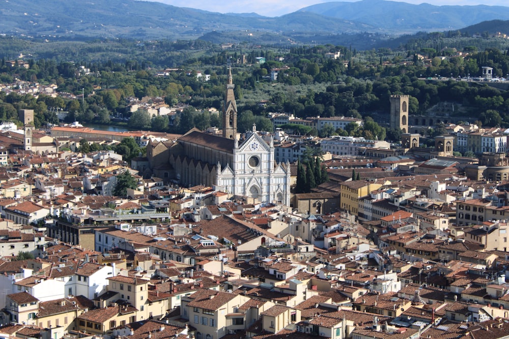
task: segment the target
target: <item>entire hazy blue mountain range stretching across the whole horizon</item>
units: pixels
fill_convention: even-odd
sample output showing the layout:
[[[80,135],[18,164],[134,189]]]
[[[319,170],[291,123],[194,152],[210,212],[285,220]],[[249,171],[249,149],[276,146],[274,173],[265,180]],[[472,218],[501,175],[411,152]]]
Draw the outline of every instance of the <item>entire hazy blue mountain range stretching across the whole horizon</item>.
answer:
[[[0,34],[47,41],[203,38],[217,40],[214,42],[345,44],[349,39],[357,41],[352,36],[358,34],[367,41],[380,40],[419,31],[456,30],[494,19],[509,20],[509,7],[362,0],[323,3],[271,18],[134,0],[5,0],[0,7]]]

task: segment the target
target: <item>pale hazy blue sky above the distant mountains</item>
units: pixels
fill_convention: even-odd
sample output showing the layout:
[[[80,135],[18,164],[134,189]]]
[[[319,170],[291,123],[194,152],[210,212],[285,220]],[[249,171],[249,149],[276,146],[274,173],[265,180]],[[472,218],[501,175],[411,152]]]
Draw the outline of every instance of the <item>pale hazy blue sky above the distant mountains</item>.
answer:
[[[303,7],[325,3],[320,0],[236,0],[236,1],[204,1],[204,0],[157,0],[158,2],[177,7],[190,7],[219,13],[258,13],[265,16],[280,16],[295,12]],[[345,0],[342,0],[345,1]],[[348,0],[346,0],[348,1]],[[507,6],[505,0],[406,0],[409,4],[428,3],[432,5],[488,5]]]

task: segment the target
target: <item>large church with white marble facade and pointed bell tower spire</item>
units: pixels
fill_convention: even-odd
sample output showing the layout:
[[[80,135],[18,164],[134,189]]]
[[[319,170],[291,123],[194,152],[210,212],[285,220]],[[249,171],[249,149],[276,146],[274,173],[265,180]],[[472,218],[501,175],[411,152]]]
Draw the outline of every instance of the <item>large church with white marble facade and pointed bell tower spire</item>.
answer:
[[[192,129],[176,141],[149,142],[149,172],[180,186],[203,184],[235,197],[290,205],[290,163],[276,163],[256,125],[241,140],[230,69],[222,109],[222,135]]]

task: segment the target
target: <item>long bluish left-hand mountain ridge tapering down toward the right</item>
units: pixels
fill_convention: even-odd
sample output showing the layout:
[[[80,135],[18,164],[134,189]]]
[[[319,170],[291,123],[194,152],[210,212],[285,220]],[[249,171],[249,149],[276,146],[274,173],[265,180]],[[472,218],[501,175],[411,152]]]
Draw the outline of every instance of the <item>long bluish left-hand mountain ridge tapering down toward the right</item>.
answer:
[[[0,33],[14,36],[68,38],[197,38],[215,30],[349,33],[374,31],[314,13],[278,18],[227,15],[157,2],[134,0],[16,0],[0,8]],[[247,34],[244,32],[244,39]],[[282,38],[284,39],[284,38]]]

